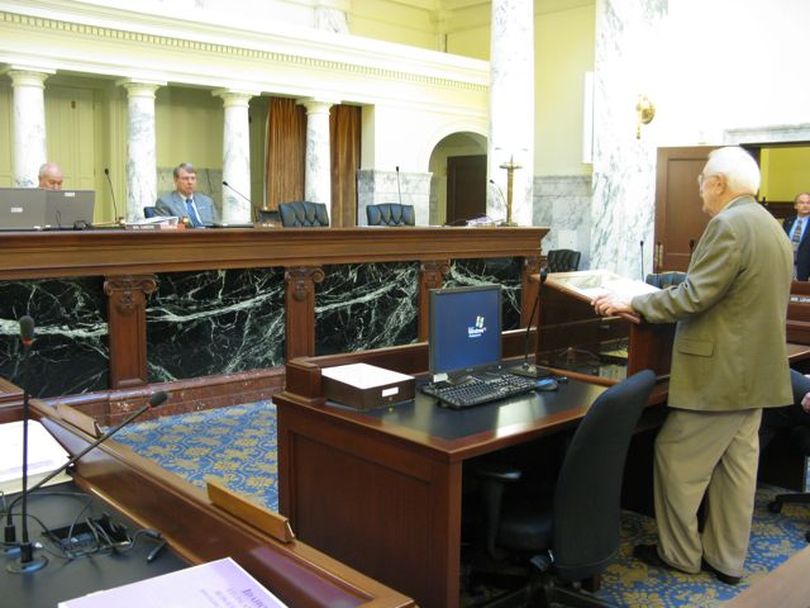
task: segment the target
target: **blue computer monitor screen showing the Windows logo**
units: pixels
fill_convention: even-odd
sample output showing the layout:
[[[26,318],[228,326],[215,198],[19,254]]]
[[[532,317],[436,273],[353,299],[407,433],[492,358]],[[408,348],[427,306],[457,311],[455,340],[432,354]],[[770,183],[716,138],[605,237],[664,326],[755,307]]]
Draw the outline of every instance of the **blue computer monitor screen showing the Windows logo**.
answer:
[[[430,292],[430,371],[469,372],[501,360],[501,286]]]

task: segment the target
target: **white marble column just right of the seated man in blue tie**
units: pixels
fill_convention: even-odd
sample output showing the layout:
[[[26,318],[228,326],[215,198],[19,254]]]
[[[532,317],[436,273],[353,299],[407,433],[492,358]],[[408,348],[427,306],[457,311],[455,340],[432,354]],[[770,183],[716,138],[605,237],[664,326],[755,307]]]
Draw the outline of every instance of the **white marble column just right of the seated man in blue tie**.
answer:
[[[231,224],[250,222],[253,209],[250,196],[250,123],[248,102],[257,93],[219,89],[225,128],[222,134],[222,221]]]

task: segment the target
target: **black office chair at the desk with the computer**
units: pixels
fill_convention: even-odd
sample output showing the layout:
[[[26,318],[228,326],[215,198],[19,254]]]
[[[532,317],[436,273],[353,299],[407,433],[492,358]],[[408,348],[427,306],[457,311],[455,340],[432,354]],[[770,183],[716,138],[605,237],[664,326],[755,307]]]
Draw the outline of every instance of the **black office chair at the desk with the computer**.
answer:
[[[545,499],[520,492],[516,482],[524,474],[518,469],[496,462],[476,467],[490,560],[502,562],[506,555],[516,554],[530,571],[526,587],[493,603],[609,606],[583,586],[598,588],[601,573],[619,550],[625,458],[654,385],[655,374],[643,370],[594,401],[568,445],[554,490]],[[515,491],[517,495],[510,496]]]

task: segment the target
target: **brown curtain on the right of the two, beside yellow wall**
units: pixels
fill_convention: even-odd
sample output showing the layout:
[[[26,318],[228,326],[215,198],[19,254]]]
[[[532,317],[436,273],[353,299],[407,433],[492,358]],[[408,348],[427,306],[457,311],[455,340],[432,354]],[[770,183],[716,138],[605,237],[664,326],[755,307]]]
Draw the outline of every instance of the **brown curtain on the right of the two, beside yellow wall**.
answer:
[[[333,226],[357,224],[357,171],[360,169],[360,108],[333,106],[329,113],[332,144]]]

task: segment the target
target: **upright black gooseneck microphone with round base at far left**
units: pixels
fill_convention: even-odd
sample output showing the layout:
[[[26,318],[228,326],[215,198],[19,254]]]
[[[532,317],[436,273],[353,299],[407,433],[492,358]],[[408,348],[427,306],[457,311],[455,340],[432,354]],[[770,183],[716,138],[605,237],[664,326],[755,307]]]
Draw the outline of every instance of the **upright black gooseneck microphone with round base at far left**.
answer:
[[[48,558],[40,556],[34,559],[34,545],[28,538],[28,419],[31,417],[28,391],[28,353],[34,343],[34,319],[25,315],[20,317],[20,341],[22,342],[22,389],[23,389],[23,453],[22,453],[22,492],[14,500],[22,499],[22,539],[20,541],[20,557],[6,566],[6,570],[14,574],[36,572],[44,568]],[[14,503],[12,503],[13,505]],[[11,505],[9,505],[9,520],[6,522],[6,540],[14,541],[14,526],[11,522]]]

